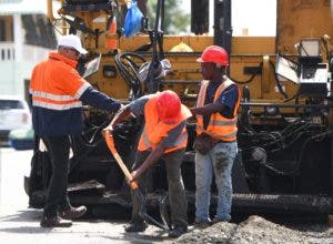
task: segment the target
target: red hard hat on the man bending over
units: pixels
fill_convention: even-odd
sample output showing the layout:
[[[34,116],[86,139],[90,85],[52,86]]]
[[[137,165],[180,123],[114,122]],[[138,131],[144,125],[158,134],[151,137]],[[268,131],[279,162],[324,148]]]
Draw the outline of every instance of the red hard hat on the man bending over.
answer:
[[[171,90],[162,91],[158,94],[157,108],[162,122],[174,122],[181,112],[180,98]]]

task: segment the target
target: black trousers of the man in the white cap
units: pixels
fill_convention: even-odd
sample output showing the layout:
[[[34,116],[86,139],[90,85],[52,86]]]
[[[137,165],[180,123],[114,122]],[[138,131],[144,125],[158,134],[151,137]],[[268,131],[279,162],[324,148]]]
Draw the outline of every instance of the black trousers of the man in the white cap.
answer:
[[[50,153],[52,164],[52,176],[50,180],[44,216],[57,216],[59,211],[69,209],[70,202],[67,194],[69,173],[70,139],[63,136],[42,136]]]

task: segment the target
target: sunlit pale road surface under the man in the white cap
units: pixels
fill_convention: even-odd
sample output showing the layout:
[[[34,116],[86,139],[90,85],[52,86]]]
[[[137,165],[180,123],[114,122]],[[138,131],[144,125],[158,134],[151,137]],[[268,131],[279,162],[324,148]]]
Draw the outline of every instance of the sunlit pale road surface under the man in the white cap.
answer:
[[[154,226],[141,234],[125,233],[127,220],[80,220],[69,228],[42,228],[41,210],[28,207],[23,177],[29,175],[32,151],[0,149],[0,243],[169,243]]]

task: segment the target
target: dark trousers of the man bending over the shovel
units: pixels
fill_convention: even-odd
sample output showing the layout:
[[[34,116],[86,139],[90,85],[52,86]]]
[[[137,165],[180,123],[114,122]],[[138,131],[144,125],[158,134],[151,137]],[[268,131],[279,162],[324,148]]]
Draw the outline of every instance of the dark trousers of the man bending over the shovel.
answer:
[[[185,197],[184,184],[181,176],[181,164],[185,150],[178,150],[162,155],[165,162],[167,179],[168,179],[168,196],[171,211],[171,222],[173,226],[188,227],[188,201]],[[150,154],[150,151],[138,152],[133,170],[138,169]],[[149,181],[151,181],[150,170],[148,170],[139,179],[139,186],[143,194],[149,189]],[[139,216],[140,203],[137,197],[133,199],[132,223],[143,223]]]

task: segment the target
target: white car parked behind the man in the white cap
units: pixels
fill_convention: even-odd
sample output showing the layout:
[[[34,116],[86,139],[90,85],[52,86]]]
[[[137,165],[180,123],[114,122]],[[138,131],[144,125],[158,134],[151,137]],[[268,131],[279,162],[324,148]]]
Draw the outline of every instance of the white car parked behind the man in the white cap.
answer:
[[[16,95],[0,95],[0,144],[8,145],[8,134],[16,129],[31,129],[27,101]]]

